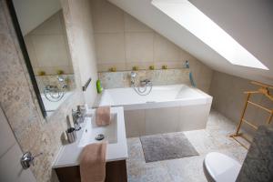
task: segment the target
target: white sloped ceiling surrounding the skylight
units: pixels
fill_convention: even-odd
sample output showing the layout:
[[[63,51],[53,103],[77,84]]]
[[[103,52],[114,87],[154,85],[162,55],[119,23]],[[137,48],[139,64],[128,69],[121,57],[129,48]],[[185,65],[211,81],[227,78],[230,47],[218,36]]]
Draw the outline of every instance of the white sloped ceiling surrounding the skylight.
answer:
[[[231,65],[183,26],[162,13],[151,0],[108,0],[196,56],[212,69],[273,85],[273,5],[270,0],[190,0],[233,36],[269,70]]]

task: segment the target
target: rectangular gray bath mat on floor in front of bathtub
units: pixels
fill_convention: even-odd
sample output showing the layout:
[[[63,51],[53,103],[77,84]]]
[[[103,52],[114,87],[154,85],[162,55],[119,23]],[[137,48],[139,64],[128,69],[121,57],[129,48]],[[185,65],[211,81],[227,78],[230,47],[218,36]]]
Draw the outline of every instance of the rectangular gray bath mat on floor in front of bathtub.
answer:
[[[140,136],[146,162],[198,156],[183,133]]]

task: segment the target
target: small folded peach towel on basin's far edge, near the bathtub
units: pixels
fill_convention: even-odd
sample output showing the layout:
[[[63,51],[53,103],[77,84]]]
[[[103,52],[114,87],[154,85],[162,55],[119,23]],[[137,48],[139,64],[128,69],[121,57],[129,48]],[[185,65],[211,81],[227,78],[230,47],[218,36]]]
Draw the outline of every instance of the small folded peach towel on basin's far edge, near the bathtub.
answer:
[[[107,126],[111,122],[110,106],[100,106],[96,108],[96,126]]]

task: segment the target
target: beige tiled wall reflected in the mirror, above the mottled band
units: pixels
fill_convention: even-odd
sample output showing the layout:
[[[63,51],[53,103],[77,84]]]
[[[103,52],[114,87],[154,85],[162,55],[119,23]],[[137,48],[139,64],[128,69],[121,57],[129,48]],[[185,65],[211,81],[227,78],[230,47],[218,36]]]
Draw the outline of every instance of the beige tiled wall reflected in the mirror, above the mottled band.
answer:
[[[25,35],[25,45],[35,74],[37,74],[37,70],[46,70],[46,74],[56,74],[56,69],[50,70],[55,66],[66,73],[74,72],[71,68],[72,61],[63,11],[58,11]]]

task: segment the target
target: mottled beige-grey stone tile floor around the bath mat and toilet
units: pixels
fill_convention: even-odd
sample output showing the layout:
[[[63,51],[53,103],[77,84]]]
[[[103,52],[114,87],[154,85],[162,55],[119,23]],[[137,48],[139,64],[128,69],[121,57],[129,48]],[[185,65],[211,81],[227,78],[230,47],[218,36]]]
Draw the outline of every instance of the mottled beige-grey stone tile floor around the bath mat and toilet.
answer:
[[[129,182],[203,182],[203,160],[208,152],[218,151],[243,162],[247,150],[229,137],[236,125],[225,116],[211,111],[207,128],[184,132],[200,156],[146,163],[138,137],[127,139],[126,161]]]

